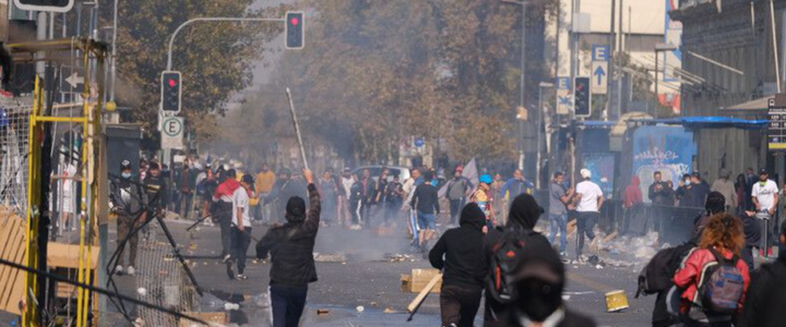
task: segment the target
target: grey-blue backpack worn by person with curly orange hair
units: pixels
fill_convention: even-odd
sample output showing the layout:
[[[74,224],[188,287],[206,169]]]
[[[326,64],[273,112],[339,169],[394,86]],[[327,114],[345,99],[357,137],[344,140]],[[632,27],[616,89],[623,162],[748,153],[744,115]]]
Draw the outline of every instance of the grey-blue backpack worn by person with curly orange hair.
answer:
[[[699,303],[704,312],[734,314],[739,300],[745,295],[745,278],[737,268],[740,259],[734,255],[726,259],[714,249],[710,249],[716,263],[707,264],[699,281]]]

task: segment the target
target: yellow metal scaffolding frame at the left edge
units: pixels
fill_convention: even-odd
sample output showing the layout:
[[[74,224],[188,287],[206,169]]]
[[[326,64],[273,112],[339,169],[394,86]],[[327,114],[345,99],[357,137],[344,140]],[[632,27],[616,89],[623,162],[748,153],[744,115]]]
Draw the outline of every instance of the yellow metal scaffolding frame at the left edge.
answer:
[[[21,44],[8,45],[11,53],[14,56],[15,62],[44,62],[52,70],[62,66],[62,62],[47,60],[47,58],[62,58],[56,53],[69,52],[72,60],[80,62],[84,69],[84,90],[82,93],[82,104],[67,105],[69,107],[81,107],[81,112],[71,117],[59,117],[53,114],[55,97],[56,97],[56,74],[49,75],[47,83],[44,83],[41,76],[35,76],[35,89],[33,94],[33,105],[28,111],[26,107],[21,106],[8,114],[13,121],[16,116],[15,123],[11,121],[3,131],[0,131],[0,140],[7,144],[0,144],[5,152],[3,156],[2,179],[0,182],[7,182],[3,185],[11,187],[0,197],[4,204],[14,208],[14,210],[24,211],[26,217],[26,258],[24,265],[39,270],[46,270],[47,243],[49,220],[53,217],[52,203],[49,202],[52,181],[64,181],[70,183],[71,187],[81,185],[81,190],[76,191],[80,196],[79,203],[72,198],[73,219],[79,220],[79,269],[76,281],[91,284],[95,281],[94,270],[91,267],[94,253],[98,245],[98,223],[102,219],[102,213],[106,213],[107,198],[106,192],[100,192],[103,187],[107,187],[106,173],[102,170],[102,161],[99,158],[102,150],[102,107],[104,93],[104,61],[107,56],[106,45],[88,38],[70,38],[46,41],[29,41]],[[74,60],[73,58],[76,58]],[[59,70],[61,71],[61,70]],[[95,81],[93,81],[95,80]],[[46,85],[45,85],[46,84]],[[94,92],[92,88],[96,88]],[[25,137],[22,128],[27,122],[27,135]],[[73,165],[74,173],[69,175],[59,174],[62,169],[53,169],[52,162],[57,162],[60,158],[60,152],[52,150],[57,148],[55,145],[56,123],[69,123],[81,126],[79,134],[83,141],[76,152],[79,156],[68,158],[67,162]],[[2,122],[0,122],[2,125]],[[26,140],[22,141],[22,140]],[[73,143],[69,145],[72,147]],[[70,149],[69,149],[70,150]],[[52,160],[52,158],[56,158]],[[21,167],[27,164],[27,169]],[[60,166],[60,165],[58,165]],[[103,172],[103,173],[102,173]],[[104,178],[102,178],[104,177]],[[23,180],[24,179],[24,180]],[[22,183],[14,183],[22,181]],[[16,186],[12,186],[16,184]],[[22,185],[26,184],[26,190]],[[25,196],[21,196],[26,191]],[[74,190],[75,191],[75,190]],[[76,193],[74,192],[74,193]],[[106,215],[103,216],[106,219]],[[43,326],[53,316],[58,315],[58,308],[55,307],[55,301],[50,301],[52,294],[47,295],[46,289],[52,282],[47,280],[40,274],[27,272],[24,286],[24,312],[22,315],[23,326]],[[74,326],[87,326],[91,319],[97,319],[97,315],[91,315],[91,311],[96,307],[96,299],[93,292],[84,288],[76,288],[76,305]],[[70,313],[69,313],[70,315]],[[92,318],[91,318],[92,317]],[[95,322],[94,322],[95,323]]]

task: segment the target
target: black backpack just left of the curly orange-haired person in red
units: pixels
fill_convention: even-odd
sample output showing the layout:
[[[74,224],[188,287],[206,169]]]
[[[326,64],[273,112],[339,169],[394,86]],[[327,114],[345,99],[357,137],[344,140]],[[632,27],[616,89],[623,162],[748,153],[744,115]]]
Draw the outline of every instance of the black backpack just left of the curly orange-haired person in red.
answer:
[[[639,290],[635,298],[667,291],[674,286],[674,276],[679,269],[682,259],[688,256],[695,244],[686,242],[677,246],[660,250],[650,259],[639,274]]]

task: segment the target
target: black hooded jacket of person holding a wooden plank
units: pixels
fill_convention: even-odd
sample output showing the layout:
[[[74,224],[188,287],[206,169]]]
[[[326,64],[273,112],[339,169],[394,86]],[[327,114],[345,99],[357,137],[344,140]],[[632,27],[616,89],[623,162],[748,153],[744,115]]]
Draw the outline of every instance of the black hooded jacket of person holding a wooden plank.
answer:
[[[477,204],[471,203],[462,209],[460,223],[461,227],[445,231],[437,241],[429,252],[429,262],[437,269],[444,268],[442,286],[480,290],[488,274],[483,232],[486,216]]]

